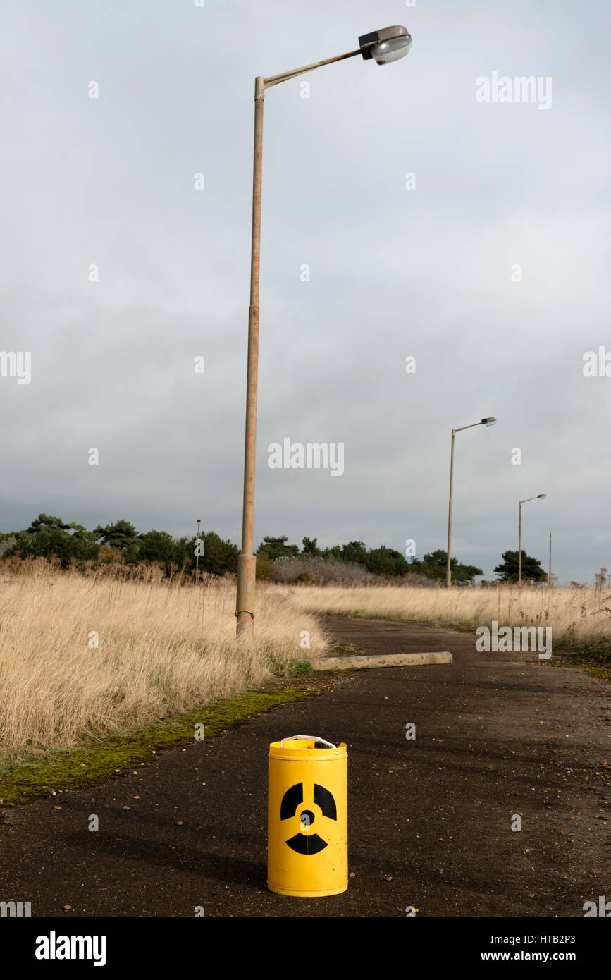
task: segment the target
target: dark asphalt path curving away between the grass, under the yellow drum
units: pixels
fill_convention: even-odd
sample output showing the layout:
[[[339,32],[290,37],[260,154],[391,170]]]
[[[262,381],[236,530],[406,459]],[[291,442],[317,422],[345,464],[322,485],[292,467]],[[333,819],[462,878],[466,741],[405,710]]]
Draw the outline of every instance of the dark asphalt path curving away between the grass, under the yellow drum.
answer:
[[[468,633],[323,621],[367,653],[454,662],[333,674],[318,697],[102,786],[0,809],[0,900],[70,918],[581,917],[611,899],[608,684],[536,654],[476,653]],[[298,731],[348,744],[352,877],[338,896],[266,889],[268,744]]]

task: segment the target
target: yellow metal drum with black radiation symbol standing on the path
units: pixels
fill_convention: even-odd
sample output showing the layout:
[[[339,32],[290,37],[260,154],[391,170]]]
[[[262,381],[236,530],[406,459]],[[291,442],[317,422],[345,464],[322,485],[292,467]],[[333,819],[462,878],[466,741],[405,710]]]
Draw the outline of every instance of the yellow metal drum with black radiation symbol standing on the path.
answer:
[[[348,753],[313,735],[269,746],[267,887],[279,895],[348,888]]]

